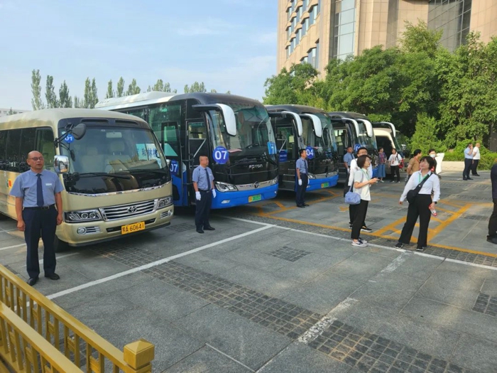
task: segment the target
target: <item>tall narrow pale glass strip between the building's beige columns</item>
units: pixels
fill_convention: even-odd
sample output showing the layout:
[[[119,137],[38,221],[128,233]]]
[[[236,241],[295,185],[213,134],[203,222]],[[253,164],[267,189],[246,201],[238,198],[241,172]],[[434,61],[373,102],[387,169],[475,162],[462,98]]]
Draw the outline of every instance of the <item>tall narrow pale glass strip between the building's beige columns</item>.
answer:
[[[356,1],[341,0],[335,4],[333,58],[344,60],[354,54],[356,33]]]

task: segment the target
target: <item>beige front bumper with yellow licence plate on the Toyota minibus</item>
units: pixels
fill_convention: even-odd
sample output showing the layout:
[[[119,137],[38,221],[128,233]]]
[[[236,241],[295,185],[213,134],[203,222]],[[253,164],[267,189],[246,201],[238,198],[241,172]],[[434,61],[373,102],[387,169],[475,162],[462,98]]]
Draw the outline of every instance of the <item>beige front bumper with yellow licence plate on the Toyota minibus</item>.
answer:
[[[170,225],[174,215],[174,205],[156,210],[149,214],[119,219],[114,221],[95,221],[81,223],[66,223],[62,222],[57,227],[57,237],[67,242],[70,246],[86,246],[89,244],[97,244],[99,242],[109,241],[111,239],[119,239],[121,237],[129,237],[131,234],[138,232],[146,232]],[[136,223],[144,222],[145,229],[134,230],[126,234],[121,233],[121,227],[135,225]]]

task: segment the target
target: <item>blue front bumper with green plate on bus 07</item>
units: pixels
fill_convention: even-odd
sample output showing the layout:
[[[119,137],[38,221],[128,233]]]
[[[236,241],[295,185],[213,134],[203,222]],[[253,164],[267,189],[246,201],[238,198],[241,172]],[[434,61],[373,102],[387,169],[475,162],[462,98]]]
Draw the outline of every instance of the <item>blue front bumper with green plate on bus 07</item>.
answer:
[[[264,188],[253,190],[237,190],[234,192],[216,191],[216,198],[212,199],[212,209],[228,208],[249,205],[252,202],[269,200],[276,197],[278,183]]]

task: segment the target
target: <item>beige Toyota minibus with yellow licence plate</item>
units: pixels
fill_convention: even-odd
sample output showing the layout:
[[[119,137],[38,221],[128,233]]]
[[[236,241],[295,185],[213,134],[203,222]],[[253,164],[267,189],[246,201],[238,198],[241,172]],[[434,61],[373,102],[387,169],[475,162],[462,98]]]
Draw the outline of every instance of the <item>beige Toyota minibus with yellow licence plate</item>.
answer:
[[[170,224],[169,168],[142,119],[91,109],[45,109],[0,118],[0,214],[16,219],[9,192],[17,176],[30,169],[26,158],[33,150],[64,186],[58,251]]]

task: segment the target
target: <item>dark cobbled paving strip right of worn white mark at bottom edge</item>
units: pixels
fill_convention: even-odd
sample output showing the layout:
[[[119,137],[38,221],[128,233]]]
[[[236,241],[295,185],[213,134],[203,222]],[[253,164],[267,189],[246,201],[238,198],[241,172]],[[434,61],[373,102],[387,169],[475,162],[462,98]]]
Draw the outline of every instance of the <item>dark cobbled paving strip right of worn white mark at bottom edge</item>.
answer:
[[[309,346],[360,372],[456,373],[469,370],[335,320]],[[390,369],[390,370],[389,370]]]

